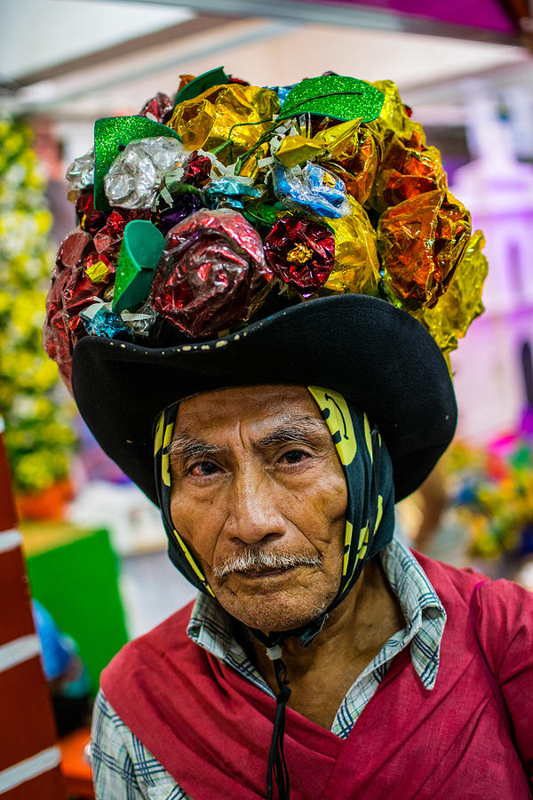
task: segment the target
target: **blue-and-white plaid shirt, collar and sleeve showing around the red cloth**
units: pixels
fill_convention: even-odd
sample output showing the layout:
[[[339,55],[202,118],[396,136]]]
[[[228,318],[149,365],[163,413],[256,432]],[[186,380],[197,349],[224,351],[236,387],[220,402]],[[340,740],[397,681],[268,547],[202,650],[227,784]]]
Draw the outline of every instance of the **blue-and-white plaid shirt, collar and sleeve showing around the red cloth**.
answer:
[[[426,689],[433,689],[437,678],[446,622],[442,603],[418,561],[399,541],[393,540],[379,556],[402,606],[406,627],[388,639],[340,704],[331,732],[341,739],[346,739],[394,657],[405,647],[410,647],[411,661]],[[187,634],[195,644],[274,697],[231,635],[227,613],[211,597],[198,596]],[[190,800],[163,765],[123,724],[101,691],[92,717],[92,766],[98,800]]]

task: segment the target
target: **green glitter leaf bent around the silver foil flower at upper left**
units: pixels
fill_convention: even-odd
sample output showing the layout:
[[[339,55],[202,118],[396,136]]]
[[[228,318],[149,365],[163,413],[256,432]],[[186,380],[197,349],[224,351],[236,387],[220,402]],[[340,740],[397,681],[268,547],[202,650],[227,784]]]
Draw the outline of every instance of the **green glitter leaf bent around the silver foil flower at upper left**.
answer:
[[[156,136],[181,137],[168,125],[147,119],[146,116],[107,116],[94,123],[94,207],[98,211],[109,211],[104,177],[109,167],[120,156],[131,141]]]

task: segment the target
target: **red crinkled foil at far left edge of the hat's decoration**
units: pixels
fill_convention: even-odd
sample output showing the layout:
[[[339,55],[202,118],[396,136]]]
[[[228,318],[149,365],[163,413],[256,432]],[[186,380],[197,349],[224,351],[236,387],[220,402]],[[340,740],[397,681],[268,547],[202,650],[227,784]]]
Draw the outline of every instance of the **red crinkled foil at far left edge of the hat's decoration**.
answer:
[[[85,268],[98,261],[91,236],[79,228],[65,236],[60,244],[52,283],[46,297],[43,345],[58,364],[60,376],[72,393],[72,351],[86,331],[80,313],[95,297],[107,291],[104,283],[93,283]]]

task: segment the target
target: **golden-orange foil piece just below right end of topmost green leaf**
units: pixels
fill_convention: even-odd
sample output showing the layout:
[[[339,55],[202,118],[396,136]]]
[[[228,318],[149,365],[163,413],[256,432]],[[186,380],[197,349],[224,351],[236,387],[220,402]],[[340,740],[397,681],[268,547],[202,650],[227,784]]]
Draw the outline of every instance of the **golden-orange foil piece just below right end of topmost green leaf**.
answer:
[[[363,205],[370,197],[378,169],[378,148],[366,126],[354,132],[335,159],[323,162],[346,186],[346,192]]]

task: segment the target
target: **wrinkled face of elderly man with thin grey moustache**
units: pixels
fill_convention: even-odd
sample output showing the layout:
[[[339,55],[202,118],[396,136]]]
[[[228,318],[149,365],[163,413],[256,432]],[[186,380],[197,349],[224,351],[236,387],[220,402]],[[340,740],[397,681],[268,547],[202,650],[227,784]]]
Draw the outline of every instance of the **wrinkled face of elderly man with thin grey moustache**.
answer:
[[[315,619],[341,576],[346,480],[306,388],[228,388],[179,405],[171,516],[219,603],[263,631]]]

